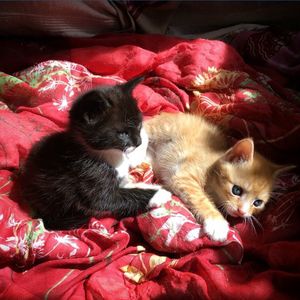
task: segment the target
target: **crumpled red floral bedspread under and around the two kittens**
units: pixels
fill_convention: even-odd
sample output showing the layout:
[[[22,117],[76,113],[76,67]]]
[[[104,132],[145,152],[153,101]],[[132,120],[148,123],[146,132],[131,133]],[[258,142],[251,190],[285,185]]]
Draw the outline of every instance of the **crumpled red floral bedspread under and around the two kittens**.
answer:
[[[250,135],[274,162],[296,165],[299,94],[220,41],[122,35],[72,41],[47,57],[25,48],[19,54],[16,60],[32,66],[0,73],[1,299],[297,298],[298,169],[277,180],[259,223],[231,219],[224,243],[204,236],[175,196],[135,218],[92,218],[84,228],[48,231],[30,217],[17,183],[32,145],[63,130],[72,101],[96,85],[144,74],[134,96],[145,118],[201,113],[230,139]],[[147,164],[131,175],[154,178]]]

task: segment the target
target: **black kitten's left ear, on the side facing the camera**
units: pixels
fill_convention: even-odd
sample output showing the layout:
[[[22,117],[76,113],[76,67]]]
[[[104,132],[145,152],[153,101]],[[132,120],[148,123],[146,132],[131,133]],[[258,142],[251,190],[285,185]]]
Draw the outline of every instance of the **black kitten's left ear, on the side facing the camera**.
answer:
[[[110,101],[103,98],[99,91],[91,90],[73,104],[70,118],[74,121],[94,125],[103,119],[111,106]]]

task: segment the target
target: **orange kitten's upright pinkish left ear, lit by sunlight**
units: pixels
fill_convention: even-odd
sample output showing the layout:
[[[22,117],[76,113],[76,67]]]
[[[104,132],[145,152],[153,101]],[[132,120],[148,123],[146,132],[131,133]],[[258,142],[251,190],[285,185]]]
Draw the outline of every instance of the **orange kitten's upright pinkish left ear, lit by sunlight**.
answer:
[[[254,155],[254,143],[251,138],[238,141],[230,148],[224,156],[224,160],[232,163],[249,162],[252,163]]]

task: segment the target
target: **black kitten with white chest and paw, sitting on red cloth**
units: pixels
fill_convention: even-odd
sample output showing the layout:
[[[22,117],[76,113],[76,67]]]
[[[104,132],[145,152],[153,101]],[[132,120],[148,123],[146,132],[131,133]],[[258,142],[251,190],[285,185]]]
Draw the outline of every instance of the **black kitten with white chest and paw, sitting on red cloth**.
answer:
[[[139,81],[82,95],[70,110],[69,128],[32,148],[21,191],[47,229],[78,228],[106,211],[134,216],[151,199],[169,196],[157,186],[126,181],[126,153],[141,144],[142,115],[132,97]]]

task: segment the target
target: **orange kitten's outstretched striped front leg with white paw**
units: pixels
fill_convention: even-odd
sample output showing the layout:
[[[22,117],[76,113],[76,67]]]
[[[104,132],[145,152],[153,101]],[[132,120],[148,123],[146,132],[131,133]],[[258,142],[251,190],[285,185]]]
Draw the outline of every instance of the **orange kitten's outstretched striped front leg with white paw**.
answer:
[[[188,205],[197,221],[203,224],[203,230],[211,240],[223,242],[227,239],[228,222],[196,181],[177,178],[173,180],[171,189]]]

